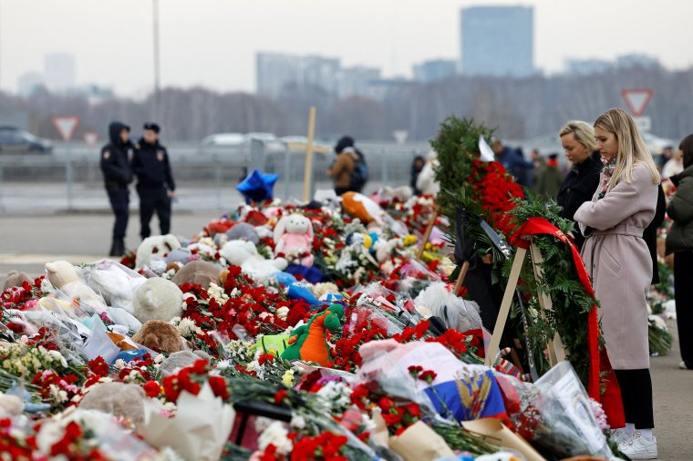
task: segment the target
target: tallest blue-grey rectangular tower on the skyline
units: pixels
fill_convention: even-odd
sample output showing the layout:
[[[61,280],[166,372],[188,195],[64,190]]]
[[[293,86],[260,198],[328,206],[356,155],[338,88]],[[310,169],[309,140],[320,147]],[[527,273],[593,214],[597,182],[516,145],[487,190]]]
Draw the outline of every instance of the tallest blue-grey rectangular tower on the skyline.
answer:
[[[533,22],[531,6],[463,8],[461,72],[469,76],[533,75]]]

